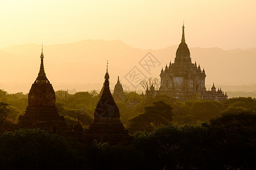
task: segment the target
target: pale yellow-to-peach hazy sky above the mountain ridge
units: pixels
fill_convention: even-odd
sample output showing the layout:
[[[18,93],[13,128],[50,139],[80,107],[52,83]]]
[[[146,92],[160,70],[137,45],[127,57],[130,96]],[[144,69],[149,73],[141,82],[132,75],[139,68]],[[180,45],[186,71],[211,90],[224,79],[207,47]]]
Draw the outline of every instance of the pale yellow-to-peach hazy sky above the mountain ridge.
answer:
[[[256,47],[256,1],[0,0],[0,48],[80,40],[122,40],[136,48]]]

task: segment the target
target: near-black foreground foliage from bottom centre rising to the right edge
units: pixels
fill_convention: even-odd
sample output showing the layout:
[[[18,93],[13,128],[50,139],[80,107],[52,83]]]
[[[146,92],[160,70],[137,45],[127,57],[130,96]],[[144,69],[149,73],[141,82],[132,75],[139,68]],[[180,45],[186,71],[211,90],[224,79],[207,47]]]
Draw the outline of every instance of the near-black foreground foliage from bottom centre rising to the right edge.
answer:
[[[95,143],[86,158],[91,169],[255,169],[255,124],[256,114],[246,112],[209,124],[169,124],[138,131],[130,146]]]

